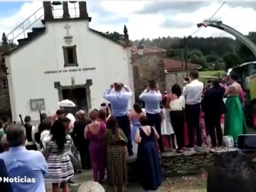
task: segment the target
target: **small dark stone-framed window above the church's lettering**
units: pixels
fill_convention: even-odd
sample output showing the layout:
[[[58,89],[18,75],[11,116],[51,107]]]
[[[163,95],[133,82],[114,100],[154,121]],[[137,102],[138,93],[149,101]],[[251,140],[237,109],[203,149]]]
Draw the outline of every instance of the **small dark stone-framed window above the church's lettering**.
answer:
[[[76,46],[63,46],[64,67],[78,67]]]

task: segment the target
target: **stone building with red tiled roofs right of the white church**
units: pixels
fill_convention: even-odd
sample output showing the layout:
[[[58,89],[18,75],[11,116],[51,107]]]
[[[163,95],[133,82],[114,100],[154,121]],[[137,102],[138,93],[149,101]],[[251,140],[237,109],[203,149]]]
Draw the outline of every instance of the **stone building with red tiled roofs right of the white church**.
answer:
[[[149,80],[155,80],[162,93],[170,90],[171,85],[175,83],[182,86],[183,79],[186,78],[185,64],[181,60],[165,58],[165,56],[164,49],[143,46],[142,43],[132,44],[134,92],[137,102]],[[188,70],[197,68],[199,65],[188,63]]]

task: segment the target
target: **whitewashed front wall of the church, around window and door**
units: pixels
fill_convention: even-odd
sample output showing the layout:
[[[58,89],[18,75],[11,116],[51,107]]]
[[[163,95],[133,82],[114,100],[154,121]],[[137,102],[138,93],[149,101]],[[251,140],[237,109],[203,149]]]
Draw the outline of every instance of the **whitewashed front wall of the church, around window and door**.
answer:
[[[9,90],[11,97],[11,111],[14,120],[19,120],[18,114],[31,115],[38,119],[38,112],[32,112],[31,99],[44,98],[47,114],[58,109],[58,90],[53,83],[60,81],[60,85],[71,85],[71,78],[75,78],[75,85],[85,84],[92,79],[90,87],[92,108],[97,108],[103,102],[102,92],[113,82],[124,82],[134,87],[132,65],[130,64],[130,48],[123,48],[117,43],[103,38],[88,29],[87,21],[69,21],[70,35],[76,45],[78,67],[64,68],[63,37],[67,22],[48,22],[46,32],[28,43],[23,48],[14,51],[6,57],[9,68]],[[68,73],[50,73],[45,71],[70,70],[78,68],[96,68]],[[133,98],[134,101],[134,98]],[[131,107],[131,105],[130,105]]]

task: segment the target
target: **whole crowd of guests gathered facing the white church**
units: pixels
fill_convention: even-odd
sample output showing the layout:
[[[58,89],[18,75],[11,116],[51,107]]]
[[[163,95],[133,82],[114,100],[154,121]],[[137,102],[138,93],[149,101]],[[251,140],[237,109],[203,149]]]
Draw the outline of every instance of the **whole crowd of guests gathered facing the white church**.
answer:
[[[126,160],[134,153],[142,187],[157,190],[161,186],[159,158],[164,151],[200,151],[203,144],[223,146],[223,114],[224,133],[235,143],[238,135],[246,132],[242,87],[237,81],[237,75],[231,74],[227,83],[215,79],[204,86],[198,72],[191,71],[183,87],[175,84],[162,95],[151,80],[139,95],[144,107],[135,103],[131,111],[132,90],[114,83],[103,94],[109,105],[102,103],[89,114],[80,110],[74,116],[68,110],[58,110],[52,117],[41,114],[38,126],[31,124],[29,116],[23,124],[6,126],[0,121],[0,159],[4,159],[6,174],[36,178],[35,183],[6,184],[4,191],[45,191],[46,182],[52,183],[53,192],[60,188],[67,192],[71,178],[81,169],[92,169],[98,183],[107,178],[114,191],[126,191]],[[227,97],[225,103],[223,97]]]

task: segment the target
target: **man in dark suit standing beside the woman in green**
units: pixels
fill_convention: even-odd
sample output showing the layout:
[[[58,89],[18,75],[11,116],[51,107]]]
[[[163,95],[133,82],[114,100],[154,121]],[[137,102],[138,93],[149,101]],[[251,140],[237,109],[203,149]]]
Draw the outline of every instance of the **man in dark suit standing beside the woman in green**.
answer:
[[[210,134],[213,147],[217,146],[215,130],[217,133],[218,146],[222,146],[223,132],[220,126],[220,116],[225,113],[225,104],[223,96],[225,89],[220,85],[220,80],[215,79],[212,82],[213,87],[205,92],[202,102],[202,110],[205,112],[206,130]]]

